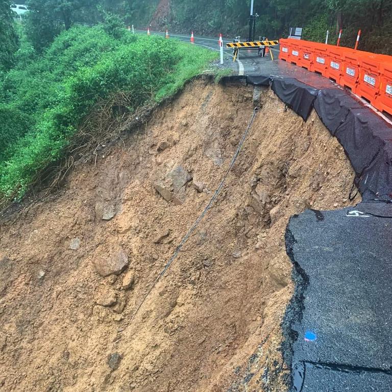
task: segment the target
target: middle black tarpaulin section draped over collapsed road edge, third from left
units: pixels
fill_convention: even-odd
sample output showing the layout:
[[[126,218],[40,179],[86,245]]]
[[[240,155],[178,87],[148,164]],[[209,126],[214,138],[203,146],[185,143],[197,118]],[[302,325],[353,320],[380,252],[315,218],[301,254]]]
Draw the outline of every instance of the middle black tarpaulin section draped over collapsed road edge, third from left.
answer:
[[[346,119],[350,109],[362,108],[352,96],[339,88],[321,90],[314,101],[314,109],[332,135]]]

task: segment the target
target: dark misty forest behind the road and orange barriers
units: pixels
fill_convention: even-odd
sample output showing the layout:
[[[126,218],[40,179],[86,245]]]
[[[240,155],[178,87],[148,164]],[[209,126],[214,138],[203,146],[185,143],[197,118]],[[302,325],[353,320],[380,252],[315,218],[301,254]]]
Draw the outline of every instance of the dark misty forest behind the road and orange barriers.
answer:
[[[172,0],[167,23],[177,29],[227,36],[247,36],[250,0]],[[287,36],[290,27],[303,27],[304,38],[331,42],[344,29],[342,43],[353,46],[362,29],[360,48],[392,54],[392,0],[255,0],[256,32],[269,38]]]

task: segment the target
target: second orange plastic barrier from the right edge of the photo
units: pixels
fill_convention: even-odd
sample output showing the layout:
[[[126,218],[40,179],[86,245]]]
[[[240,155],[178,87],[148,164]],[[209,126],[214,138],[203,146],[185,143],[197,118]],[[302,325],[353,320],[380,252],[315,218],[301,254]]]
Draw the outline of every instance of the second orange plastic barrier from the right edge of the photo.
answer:
[[[355,92],[375,106],[376,97],[380,91],[382,57],[365,53],[362,52],[359,57],[359,80]]]

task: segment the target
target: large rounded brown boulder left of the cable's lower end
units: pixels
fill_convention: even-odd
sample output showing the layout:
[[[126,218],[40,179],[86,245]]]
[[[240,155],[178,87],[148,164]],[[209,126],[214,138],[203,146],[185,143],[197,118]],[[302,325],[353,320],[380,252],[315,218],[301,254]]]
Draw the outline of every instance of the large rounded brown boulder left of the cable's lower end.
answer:
[[[128,266],[128,255],[120,246],[100,246],[95,250],[92,262],[97,273],[103,277],[119,275]]]

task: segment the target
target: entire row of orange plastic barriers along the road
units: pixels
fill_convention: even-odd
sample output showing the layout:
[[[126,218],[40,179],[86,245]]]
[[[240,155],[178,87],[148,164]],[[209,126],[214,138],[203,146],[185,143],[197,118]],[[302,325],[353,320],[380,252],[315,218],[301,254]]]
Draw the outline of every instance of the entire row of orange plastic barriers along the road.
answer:
[[[392,115],[392,56],[298,39],[279,40],[279,58],[317,72]]]

